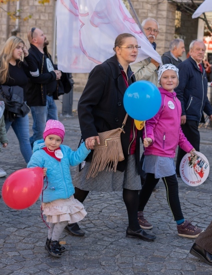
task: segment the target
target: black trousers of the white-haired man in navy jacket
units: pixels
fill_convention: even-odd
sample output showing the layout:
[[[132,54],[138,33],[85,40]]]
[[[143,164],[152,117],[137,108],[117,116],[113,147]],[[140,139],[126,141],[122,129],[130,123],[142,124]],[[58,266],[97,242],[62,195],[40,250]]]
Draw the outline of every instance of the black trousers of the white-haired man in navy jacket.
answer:
[[[181,125],[183,133],[185,134],[189,142],[193,145],[193,147],[196,149],[196,151],[200,151],[200,132],[198,130],[198,125],[199,122],[195,120],[186,120],[186,123]],[[178,156],[176,162],[177,174],[180,174],[181,160],[186,153],[187,152],[178,147]]]

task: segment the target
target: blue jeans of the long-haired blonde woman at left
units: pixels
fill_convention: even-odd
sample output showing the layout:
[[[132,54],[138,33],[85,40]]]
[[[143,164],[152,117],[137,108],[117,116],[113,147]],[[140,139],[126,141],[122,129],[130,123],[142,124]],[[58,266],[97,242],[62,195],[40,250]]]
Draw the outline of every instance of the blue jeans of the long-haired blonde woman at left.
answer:
[[[20,151],[26,163],[29,162],[32,155],[31,145],[29,142],[29,118],[28,115],[24,117],[16,117],[14,121],[5,119],[5,128],[8,131],[9,127],[12,126],[17,139],[19,141]]]

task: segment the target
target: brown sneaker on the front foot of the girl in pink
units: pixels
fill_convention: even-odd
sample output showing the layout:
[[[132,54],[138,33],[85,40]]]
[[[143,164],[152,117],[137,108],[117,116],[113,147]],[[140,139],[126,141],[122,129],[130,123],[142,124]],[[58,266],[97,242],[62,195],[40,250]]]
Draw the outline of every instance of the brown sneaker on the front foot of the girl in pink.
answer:
[[[193,225],[190,220],[186,219],[182,224],[177,225],[177,228],[179,236],[188,238],[196,238],[204,231],[202,228]]]

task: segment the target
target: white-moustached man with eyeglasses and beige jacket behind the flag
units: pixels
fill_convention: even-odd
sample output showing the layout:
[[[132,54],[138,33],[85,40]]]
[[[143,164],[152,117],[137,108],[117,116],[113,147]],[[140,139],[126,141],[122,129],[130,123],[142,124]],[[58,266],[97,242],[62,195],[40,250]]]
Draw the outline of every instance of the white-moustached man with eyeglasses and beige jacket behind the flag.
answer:
[[[155,39],[159,33],[159,24],[153,18],[147,18],[141,23],[144,32],[154,47],[156,49]],[[132,71],[134,71],[136,80],[148,80],[158,86],[158,67],[159,63],[151,57],[146,58],[138,63],[130,65]]]

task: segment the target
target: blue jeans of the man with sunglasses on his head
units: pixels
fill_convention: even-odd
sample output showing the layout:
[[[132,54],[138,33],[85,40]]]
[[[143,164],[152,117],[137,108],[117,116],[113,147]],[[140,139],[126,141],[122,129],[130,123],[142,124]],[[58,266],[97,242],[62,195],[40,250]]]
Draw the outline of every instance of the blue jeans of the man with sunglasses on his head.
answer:
[[[53,96],[46,95],[46,106],[31,106],[31,115],[33,118],[33,135],[29,138],[31,146],[34,141],[43,138],[45,123],[48,119],[58,120],[57,106]]]

